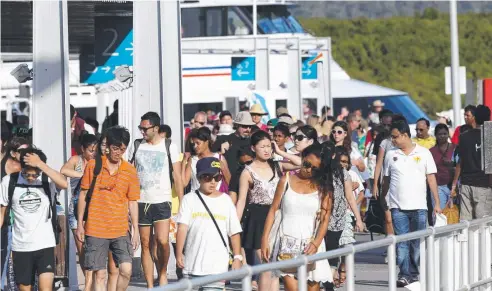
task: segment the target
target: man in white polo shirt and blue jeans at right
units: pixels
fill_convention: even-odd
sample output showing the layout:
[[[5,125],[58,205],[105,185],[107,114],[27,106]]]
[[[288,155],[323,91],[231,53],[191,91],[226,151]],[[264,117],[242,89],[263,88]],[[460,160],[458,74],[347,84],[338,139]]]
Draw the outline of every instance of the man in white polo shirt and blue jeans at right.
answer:
[[[396,235],[423,230],[427,227],[427,183],[436,202],[434,211],[441,213],[434,158],[430,151],[412,142],[410,127],[405,121],[391,125],[391,140],[395,148],[384,160],[383,195],[389,191],[389,208]],[[420,260],[419,240],[396,245],[400,267],[398,287],[418,280]]]

